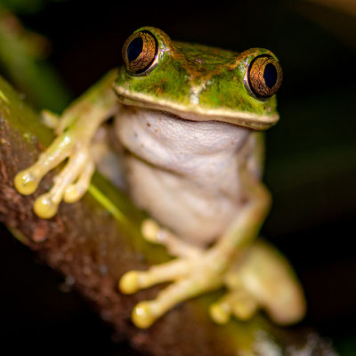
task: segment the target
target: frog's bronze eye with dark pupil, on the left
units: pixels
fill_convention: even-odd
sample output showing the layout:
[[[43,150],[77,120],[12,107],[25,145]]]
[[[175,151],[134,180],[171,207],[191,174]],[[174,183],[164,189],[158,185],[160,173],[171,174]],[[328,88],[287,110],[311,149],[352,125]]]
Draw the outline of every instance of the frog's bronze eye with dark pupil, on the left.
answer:
[[[129,36],[123,46],[123,58],[130,74],[143,75],[155,67],[158,42],[150,31],[140,31]]]

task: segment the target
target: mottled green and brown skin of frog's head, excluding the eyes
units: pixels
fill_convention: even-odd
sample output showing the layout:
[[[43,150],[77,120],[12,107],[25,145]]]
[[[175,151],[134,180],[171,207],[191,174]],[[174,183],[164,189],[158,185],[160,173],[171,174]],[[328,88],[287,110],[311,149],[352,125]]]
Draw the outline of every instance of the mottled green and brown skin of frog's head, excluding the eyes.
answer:
[[[167,111],[171,105],[178,105],[183,111],[198,115],[208,110],[211,113],[226,110],[233,117],[243,112],[278,120],[275,95],[268,101],[257,100],[244,84],[250,61],[263,53],[274,56],[270,51],[253,48],[234,53],[201,44],[173,42],[158,28],[137,31],[142,29],[150,30],[158,39],[158,65],[142,76],[129,74],[125,66],[118,69],[114,87],[119,100],[140,106],[145,106],[147,100],[163,100]],[[143,94],[144,102],[137,102],[132,97],[135,93]]]

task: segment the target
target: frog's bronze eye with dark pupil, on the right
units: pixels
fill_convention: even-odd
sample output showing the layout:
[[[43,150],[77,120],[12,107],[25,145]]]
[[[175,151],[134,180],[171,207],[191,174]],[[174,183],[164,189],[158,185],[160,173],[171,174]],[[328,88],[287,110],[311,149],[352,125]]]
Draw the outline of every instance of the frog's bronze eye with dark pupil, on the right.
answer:
[[[279,62],[271,55],[255,57],[247,69],[248,87],[259,100],[269,99],[279,90],[283,72]]]

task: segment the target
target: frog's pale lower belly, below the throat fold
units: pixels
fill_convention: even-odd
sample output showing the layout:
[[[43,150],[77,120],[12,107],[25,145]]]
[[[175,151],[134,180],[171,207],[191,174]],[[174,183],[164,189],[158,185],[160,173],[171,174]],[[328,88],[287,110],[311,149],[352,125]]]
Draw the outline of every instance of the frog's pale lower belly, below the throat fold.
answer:
[[[127,181],[134,202],[181,239],[206,246],[227,229],[239,206],[218,191],[127,157]]]

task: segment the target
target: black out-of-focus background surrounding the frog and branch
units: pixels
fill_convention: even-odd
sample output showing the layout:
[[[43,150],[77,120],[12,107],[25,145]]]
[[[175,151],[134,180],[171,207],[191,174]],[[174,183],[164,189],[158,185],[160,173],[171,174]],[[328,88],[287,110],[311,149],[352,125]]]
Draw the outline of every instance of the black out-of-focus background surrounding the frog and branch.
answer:
[[[178,40],[266,47],[279,57],[281,120],[267,134],[265,173],[274,203],[263,236],[303,283],[302,326],[331,338],[343,356],[356,354],[356,3],[28,1],[17,12],[50,40],[49,60],[72,98],[121,63],[125,38],[145,25]],[[0,237],[0,338],[12,353],[134,354],[113,343],[110,328],[4,227]]]

